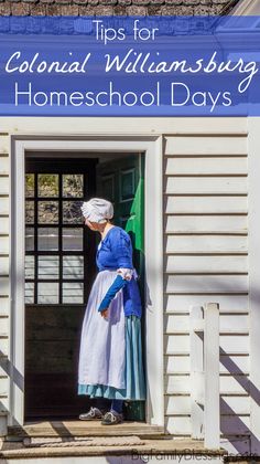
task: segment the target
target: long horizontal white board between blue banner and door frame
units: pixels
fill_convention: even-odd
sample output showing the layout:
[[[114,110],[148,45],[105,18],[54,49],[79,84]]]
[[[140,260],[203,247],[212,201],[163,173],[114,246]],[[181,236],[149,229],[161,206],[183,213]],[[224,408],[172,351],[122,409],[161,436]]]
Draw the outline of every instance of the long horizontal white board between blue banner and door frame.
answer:
[[[115,133],[115,119],[106,120],[106,133],[112,130]],[[55,120],[50,117],[20,117],[20,118],[1,118],[1,133],[20,131],[23,134],[51,134],[55,131],[58,135],[67,136],[72,133],[72,127],[75,128],[75,134],[104,134],[104,118],[96,117],[86,119],[82,117],[57,117]],[[131,117],[117,118],[117,134],[126,136],[126,134],[183,134],[189,136],[191,134],[213,134],[219,133],[228,136],[247,136],[248,125],[246,117]],[[100,126],[100,127],[99,127]],[[43,130],[44,128],[44,130]],[[99,129],[99,130],[98,130]]]

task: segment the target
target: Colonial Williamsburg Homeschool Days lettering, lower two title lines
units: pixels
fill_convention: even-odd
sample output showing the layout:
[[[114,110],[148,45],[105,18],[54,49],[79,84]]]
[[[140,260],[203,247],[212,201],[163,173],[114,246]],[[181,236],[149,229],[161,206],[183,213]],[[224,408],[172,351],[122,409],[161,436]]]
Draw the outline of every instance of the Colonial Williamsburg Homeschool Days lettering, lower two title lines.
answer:
[[[73,59],[73,54],[68,53],[69,57]],[[158,53],[159,55],[159,53]],[[239,59],[237,63],[230,61],[225,63],[216,62],[217,52],[214,52],[209,61],[205,63],[203,59],[196,60],[195,66],[189,65],[186,60],[172,61],[167,63],[165,61],[154,62],[151,59],[151,53],[137,53],[133,49],[130,49],[126,56],[120,57],[116,55],[111,57],[110,54],[105,55],[105,73],[117,73],[124,72],[131,73],[149,73],[149,74],[161,74],[161,73],[232,73],[238,71],[241,74],[241,81],[238,83],[238,92],[243,93],[250,85],[254,74],[258,73],[256,62],[243,63],[242,59]],[[8,60],[6,65],[7,73],[57,73],[57,74],[87,74],[88,62],[91,59],[91,54],[88,53],[83,62],[79,61],[65,61],[65,62],[47,62],[42,60],[40,53],[36,53],[31,61],[22,59],[20,51],[14,52]],[[19,85],[15,82],[14,91],[14,104],[18,106],[20,103],[32,106],[45,106],[45,105],[73,105],[73,106],[160,106],[161,98],[161,84],[156,82],[155,85],[151,86],[149,91],[137,93],[133,91],[122,92],[117,89],[112,81],[109,81],[108,88],[104,88],[100,92],[87,91],[80,92],[75,89],[74,92],[67,93],[64,91],[33,91],[33,84],[30,82],[25,87]],[[180,94],[180,91],[182,92]],[[164,98],[164,105],[170,106],[183,106],[187,102],[192,101],[195,106],[210,106],[210,113],[214,112],[217,104],[224,106],[230,106],[231,95],[230,92],[194,92],[192,93],[188,85],[182,82],[171,82],[169,88],[164,86],[164,93],[167,95],[167,101]]]

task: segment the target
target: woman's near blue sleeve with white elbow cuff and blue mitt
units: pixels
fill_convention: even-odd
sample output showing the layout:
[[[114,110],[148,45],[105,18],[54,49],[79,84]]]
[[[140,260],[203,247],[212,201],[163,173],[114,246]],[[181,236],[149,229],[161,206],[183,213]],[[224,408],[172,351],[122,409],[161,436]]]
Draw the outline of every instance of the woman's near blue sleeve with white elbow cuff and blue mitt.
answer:
[[[122,232],[119,229],[117,233],[115,233],[113,239],[110,241],[110,247],[117,261],[118,275],[102,298],[98,307],[99,312],[108,308],[117,293],[124,287],[127,282],[131,278],[131,272],[133,267],[131,240],[130,236],[126,234],[126,232]]]

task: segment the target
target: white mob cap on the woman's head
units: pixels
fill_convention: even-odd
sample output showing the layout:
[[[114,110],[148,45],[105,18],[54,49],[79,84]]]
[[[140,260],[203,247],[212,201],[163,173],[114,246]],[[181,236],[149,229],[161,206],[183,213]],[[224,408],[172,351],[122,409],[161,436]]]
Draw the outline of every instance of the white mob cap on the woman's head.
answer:
[[[113,205],[102,198],[91,198],[83,203],[82,212],[88,221],[101,224],[113,217]]]

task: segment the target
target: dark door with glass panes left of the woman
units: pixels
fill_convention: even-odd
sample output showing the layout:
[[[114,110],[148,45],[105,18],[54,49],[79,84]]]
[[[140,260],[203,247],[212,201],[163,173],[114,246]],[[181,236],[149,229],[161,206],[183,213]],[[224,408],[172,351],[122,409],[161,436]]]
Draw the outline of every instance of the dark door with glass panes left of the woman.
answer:
[[[95,236],[80,205],[96,193],[96,162],[26,158],[25,421],[77,418],[90,405],[77,396],[77,366]]]

